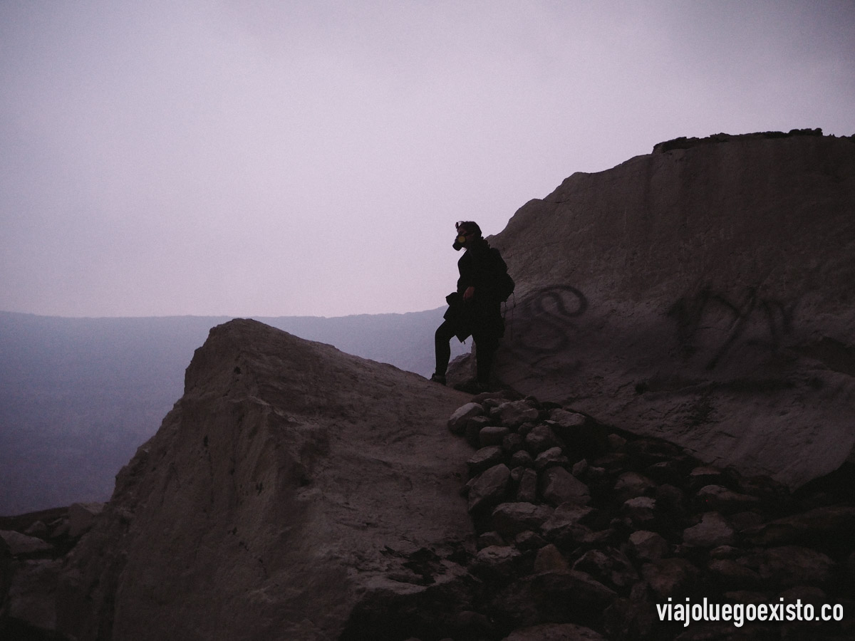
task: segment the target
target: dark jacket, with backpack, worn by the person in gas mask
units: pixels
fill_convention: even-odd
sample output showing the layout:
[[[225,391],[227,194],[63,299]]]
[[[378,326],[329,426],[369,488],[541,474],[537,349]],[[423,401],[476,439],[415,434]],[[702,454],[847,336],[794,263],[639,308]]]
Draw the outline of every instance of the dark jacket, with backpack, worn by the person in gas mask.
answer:
[[[448,310],[445,320],[454,326],[455,335],[465,340],[470,335],[484,338],[501,338],[504,335],[502,301],[498,295],[500,278],[508,266],[498,250],[484,238],[473,241],[472,246],[457,261],[457,291],[446,297]],[[475,296],[463,300],[463,292],[475,287]]]

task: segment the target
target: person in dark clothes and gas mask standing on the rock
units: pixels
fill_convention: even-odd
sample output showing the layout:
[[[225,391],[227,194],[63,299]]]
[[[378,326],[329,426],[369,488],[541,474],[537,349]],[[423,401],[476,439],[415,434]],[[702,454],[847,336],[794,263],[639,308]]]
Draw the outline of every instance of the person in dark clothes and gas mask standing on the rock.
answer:
[[[487,391],[490,384],[492,358],[498,341],[504,336],[501,305],[513,291],[508,266],[498,250],[481,237],[481,227],[473,221],[455,223],[455,250],[466,250],[457,261],[457,291],[445,297],[448,310],[445,321],[434,336],[436,371],[431,380],[445,385],[445,369],[451,358],[451,338],[463,342],[475,339],[475,389],[467,385],[464,391]],[[509,285],[510,283],[510,285]],[[510,287],[510,291],[509,291]]]

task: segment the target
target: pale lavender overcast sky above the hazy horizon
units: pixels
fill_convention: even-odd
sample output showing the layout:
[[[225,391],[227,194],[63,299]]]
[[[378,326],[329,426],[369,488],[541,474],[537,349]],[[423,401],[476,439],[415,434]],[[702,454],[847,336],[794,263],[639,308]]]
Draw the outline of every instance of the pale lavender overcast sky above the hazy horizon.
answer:
[[[454,221],[815,127],[855,134],[852,0],[0,0],[0,310],[433,309]]]

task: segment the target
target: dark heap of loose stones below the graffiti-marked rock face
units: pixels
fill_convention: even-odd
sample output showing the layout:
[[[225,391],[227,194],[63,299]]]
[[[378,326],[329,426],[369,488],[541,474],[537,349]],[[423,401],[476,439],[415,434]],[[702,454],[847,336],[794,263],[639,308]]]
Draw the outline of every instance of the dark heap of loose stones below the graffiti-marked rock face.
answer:
[[[490,626],[471,638],[855,638],[855,503],[842,481],[792,493],[533,397],[475,397],[449,428],[477,448],[463,492]],[[657,604],[687,599],[775,610],[743,626],[658,620]],[[842,620],[775,618],[823,605]]]

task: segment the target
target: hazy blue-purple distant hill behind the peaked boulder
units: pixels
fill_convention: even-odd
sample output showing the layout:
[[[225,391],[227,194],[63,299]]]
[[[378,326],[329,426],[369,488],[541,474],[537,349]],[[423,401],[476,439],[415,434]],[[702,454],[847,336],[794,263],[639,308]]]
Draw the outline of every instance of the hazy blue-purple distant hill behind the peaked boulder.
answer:
[[[429,376],[443,311],[257,320]],[[181,397],[193,351],[229,320],[0,312],[0,515],[109,498],[115,473]]]

